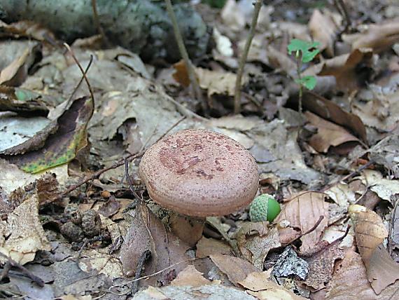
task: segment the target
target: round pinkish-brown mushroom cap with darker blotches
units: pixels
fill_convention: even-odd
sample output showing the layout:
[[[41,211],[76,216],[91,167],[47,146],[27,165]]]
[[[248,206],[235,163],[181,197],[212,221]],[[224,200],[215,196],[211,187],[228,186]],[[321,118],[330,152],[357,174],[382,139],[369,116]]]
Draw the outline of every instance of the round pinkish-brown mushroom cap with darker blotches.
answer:
[[[209,130],[183,130],[153,144],[139,175],[151,198],[195,217],[230,214],[258,191],[258,165],[241,144]]]

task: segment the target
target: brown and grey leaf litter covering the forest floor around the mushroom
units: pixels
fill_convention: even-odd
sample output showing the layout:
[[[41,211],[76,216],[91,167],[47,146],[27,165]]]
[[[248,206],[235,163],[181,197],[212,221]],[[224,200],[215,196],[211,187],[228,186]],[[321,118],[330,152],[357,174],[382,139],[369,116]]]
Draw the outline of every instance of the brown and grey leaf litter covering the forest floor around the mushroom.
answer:
[[[192,96],[183,62],[151,60],[173,55],[105,49],[101,36],[76,41],[71,53],[34,20],[1,22],[1,295],[394,299],[398,6],[308,2],[262,6],[238,115],[232,102],[251,1],[193,6],[214,27],[208,56],[194,60],[208,111]],[[311,45],[300,73],[316,86],[304,90],[304,114],[294,110],[292,41],[294,54]],[[90,65],[92,95],[75,58]],[[151,201],[140,156],[189,128],[221,132],[251,152],[258,193],[281,204],[275,221],[251,222],[246,208],[193,229]],[[190,245],[174,232],[191,236]]]

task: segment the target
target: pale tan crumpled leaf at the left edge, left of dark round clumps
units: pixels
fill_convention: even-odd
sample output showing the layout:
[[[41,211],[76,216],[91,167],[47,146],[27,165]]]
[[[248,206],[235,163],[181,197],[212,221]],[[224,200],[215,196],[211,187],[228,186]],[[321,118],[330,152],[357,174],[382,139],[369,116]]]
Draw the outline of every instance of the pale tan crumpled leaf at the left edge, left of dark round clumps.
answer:
[[[33,261],[36,251],[51,250],[38,217],[37,193],[25,196],[27,198],[8,215],[7,221],[1,221],[1,227],[6,229],[8,234],[6,237],[0,237],[0,241],[3,240],[0,252],[22,265]]]

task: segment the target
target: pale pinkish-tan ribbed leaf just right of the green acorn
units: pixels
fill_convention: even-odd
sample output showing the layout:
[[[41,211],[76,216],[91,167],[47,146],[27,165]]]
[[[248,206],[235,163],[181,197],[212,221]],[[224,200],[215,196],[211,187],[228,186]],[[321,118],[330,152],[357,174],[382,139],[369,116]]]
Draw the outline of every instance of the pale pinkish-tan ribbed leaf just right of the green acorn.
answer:
[[[308,252],[318,244],[328,224],[328,203],[324,198],[323,193],[313,191],[301,193],[283,206],[276,219],[278,223],[283,220],[289,221],[290,227],[300,229],[303,234],[312,229],[320,217],[323,217],[314,231],[302,236],[301,252]]]

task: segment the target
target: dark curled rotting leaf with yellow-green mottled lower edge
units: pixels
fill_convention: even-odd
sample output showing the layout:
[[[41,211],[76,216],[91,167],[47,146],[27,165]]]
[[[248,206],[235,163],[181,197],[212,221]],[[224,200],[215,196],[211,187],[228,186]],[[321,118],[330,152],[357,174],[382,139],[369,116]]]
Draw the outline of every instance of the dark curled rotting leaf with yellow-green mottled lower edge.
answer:
[[[92,111],[90,98],[83,97],[75,100],[71,107],[57,119],[58,129],[48,136],[43,148],[26,154],[5,156],[5,158],[25,172],[31,173],[68,163],[75,158],[80,149],[87,146],[86,126],[92,116]]]

